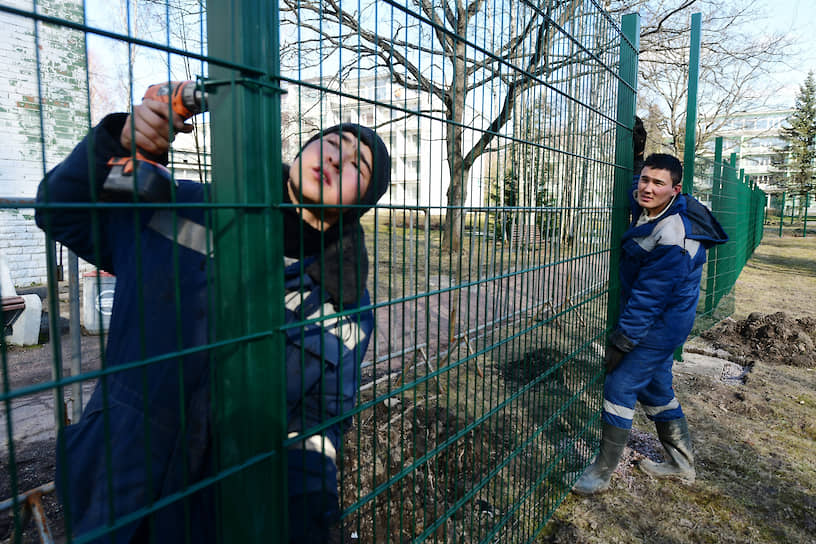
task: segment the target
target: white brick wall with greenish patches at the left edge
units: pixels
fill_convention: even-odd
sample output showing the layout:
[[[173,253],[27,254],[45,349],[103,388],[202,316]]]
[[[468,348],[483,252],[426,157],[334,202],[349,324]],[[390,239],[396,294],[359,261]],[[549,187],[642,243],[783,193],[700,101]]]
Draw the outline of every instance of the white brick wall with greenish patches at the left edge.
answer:
[[[31,11],[31,1],[6,0]],[[81,0],[39,0],[37,11],[82,21]],[[88,130],[82,32],[0,13],[0,199],[32,198],[43,174]],[[45,238],[31,209],[0,209],[0,254],[16,286],[45,283]],[[67,264],[67,260],[65,261]]]

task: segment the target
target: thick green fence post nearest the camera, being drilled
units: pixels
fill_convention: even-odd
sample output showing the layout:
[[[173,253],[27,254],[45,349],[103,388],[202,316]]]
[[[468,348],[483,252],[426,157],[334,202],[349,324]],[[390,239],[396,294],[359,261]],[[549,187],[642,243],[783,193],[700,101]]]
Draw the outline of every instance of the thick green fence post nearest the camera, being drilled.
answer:
[[[287,541],[278,16],[261,0],[207,12],[214,327],[233,342],[214,356],[222,542]]]

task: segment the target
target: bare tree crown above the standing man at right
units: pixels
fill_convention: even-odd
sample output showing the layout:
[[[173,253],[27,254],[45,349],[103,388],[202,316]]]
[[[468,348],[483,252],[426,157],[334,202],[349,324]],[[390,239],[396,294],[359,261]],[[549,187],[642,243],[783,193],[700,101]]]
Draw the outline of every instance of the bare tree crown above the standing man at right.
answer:
[[[623,0],[610,9],[642,17],[639,109],[668,137],[669,151],[684,151],[692,13],[702,14],[695,152],[729,116],[773,100],[778,89],[769,76],[788,58],[791,43],[757,31],[764,17],[757,1]]]

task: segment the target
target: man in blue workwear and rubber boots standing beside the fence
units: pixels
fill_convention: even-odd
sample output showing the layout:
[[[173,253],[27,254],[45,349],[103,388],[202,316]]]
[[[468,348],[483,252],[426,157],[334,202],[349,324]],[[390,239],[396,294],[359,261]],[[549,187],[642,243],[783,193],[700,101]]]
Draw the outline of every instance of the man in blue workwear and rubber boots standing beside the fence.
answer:
[[[666,154],[648,156],[636,178],[633,220],[622,240],[622,310],[606,349],[601,449],[573,488],[579,494],[609,487],[637,402],[668,455],[641,468],[659,478],[695,478],[688,425],[672,387],[673,354],[694,324],[706,249],[728,237],[705,206],[680,193],[682,178],[680,161]]]

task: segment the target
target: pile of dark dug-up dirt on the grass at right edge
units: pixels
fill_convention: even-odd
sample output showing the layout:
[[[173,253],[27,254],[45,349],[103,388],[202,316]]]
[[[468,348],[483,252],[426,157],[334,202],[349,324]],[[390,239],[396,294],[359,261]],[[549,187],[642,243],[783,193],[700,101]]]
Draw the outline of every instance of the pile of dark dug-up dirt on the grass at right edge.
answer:
[[[785,312],[754,312],[740,321],[727,318],[701,336],[745,365],[762,361],[816,367],[816,319],[812,317],[797,319]]]

